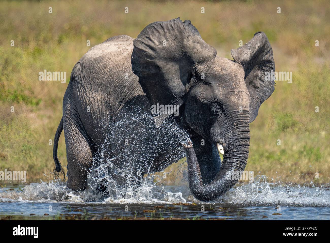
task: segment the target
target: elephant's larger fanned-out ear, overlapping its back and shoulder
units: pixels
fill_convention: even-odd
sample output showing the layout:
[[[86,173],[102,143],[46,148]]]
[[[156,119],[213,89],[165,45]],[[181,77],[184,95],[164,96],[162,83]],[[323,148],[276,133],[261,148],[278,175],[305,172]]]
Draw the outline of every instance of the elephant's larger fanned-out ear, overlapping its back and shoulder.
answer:
[[[216,50],[205,43],[189,20],[149,24],[134,40],[132,68],[153,105],[182,105],[190,80],[199,79]],[[204,76],[204,75],[202,75]],[[154,114],[157,126],[170,114]]]

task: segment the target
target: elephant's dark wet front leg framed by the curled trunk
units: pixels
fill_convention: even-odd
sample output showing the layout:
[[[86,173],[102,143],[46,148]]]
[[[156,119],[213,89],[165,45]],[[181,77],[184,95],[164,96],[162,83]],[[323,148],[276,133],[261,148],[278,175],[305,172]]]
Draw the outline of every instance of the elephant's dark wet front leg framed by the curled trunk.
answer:
[[[211,144],[200,135],[190,135],[201,171],[203,184],[215,179],[221,168],[221,158],[215,144]]]

